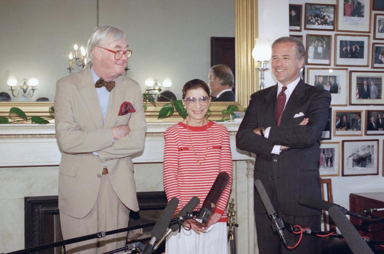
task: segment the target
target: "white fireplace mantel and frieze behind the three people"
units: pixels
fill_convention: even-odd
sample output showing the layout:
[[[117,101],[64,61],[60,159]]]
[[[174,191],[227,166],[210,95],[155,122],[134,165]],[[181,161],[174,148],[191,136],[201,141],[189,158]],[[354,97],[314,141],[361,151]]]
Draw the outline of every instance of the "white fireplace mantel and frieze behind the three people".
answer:
[[[134,163],[163,161],[164,132],[175,123],[147,123],[144,150],[132,157]],[[228,128],[234,161],[252,159],[249,153],[236,149],[235,134],[240,123],[221,123]],[[0,154],[7,160],[0,167],[45,166],[60,164],[61,153],[55,137],[55,124],[0,125]],[[156,153],[154,153],[156,151]]]

